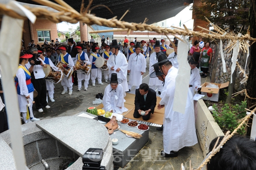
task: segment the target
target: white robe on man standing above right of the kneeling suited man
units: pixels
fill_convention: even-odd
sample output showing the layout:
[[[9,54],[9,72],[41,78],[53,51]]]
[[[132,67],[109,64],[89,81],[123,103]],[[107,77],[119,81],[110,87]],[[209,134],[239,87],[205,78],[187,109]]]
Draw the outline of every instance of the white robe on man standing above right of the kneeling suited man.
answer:
[[[157,63],[157,53],[154,52],[150,55],[149,58],[149,75],[154,72],[154,67],[152,67],[153,64]],[[149,86],[162,86],[163,83],[161,80],[159,80],[157,77],[149,78]],[[155,90],[155,89],[153,89]]]

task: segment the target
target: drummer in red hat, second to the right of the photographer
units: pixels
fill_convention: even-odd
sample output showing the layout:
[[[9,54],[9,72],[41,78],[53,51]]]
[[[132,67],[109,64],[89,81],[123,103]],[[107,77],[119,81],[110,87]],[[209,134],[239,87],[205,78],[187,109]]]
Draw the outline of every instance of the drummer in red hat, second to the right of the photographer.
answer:
[[[64,62],[66,65],[69,65],[70,67],[73,67],[74,70],[76,70],[76,67],[74,65],[74,61],[73,59],[71,58],[70,54],[67,53],[67,48],[62,46],[60,48],[58,48],[61,50],[61,55],[59,57],[59,62],[62,61]],[[67,77],[64,77],[62,80],[61,80],[61,85],[63,86],[64,90],[62,91],[61,94],[66,94],[67,93],[67,88],[69,89],[69,95],[72,94],[73,92],[73,82],[72,82],[72,79],[67,79]]]

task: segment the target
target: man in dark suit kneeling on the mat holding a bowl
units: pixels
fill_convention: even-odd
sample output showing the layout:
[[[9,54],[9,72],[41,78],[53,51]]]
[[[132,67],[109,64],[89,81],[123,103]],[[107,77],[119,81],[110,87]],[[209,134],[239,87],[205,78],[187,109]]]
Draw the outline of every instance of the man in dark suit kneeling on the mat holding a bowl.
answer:
[[[139,118],[141,116],[141,111],[145,111],[145,115],[142,116],[142,118],[143,120],[148,120],[150,114],[154,113],[154,108],[157,105],[156,92],[149,88],[147,84],[142,83],[140,88],[136,90],[134,104],[134,118]]]

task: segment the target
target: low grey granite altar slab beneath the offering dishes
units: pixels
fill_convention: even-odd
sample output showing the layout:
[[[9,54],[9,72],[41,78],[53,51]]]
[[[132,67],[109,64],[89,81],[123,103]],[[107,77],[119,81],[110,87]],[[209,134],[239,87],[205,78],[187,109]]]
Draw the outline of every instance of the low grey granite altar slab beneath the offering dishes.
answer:
[[[116,139],[119,141],[118,144],[113,145],[114,164],[119,167],[125,167],[136,153],[138,153],[148,142],[149,130],[141,131],[138,130],[137,127],[128,127],[127,124],[122,124],[121,122],[118,122],[118,125],[120,125],[120,129],[122,130],[128,130],[142,135],[140,139],[134,137],[130,138],[120,130],[116,130],[115,135],[113,133],[110,135],[111,139],[116,136]]]

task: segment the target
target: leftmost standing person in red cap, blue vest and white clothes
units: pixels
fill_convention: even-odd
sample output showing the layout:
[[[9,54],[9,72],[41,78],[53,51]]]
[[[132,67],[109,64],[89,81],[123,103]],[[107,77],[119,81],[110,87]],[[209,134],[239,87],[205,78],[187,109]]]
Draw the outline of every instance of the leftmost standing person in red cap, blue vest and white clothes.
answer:
[[[26,67],[26,64],[29,62],[29,58],[32,58],[32,54],[20,53],[20,61],[18,70],[15,76],[15,86],[17,88],[18,102],[20,107],[20,113],[24,123],[29,123],[30,121],[38,121],[34,117],[32,105],[33,105],[33,94],[34,86],[31,82],[31,74]]]

